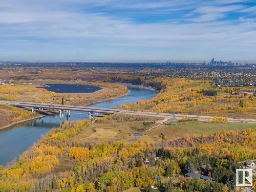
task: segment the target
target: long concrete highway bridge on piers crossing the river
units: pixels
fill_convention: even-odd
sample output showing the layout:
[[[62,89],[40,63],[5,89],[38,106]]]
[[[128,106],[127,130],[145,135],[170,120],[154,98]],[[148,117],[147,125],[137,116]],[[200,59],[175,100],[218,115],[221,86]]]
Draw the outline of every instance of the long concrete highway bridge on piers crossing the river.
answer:
[[[16,106],[17,108],[23,108],[26,110],[31,110],[32,112],[42,112],[42,111],[58,111],[60,118],[63,118],[63,114],[66,113],[67,116],[71,115],[71,111],[88,112],[89,118],[93,114],[97,115],[108,115],[114,113],[120,113],[120,110],[107,109],[107,108],[93,108],[90,106],[77,106],[77,105],[62,105],[62,104],[51,104],[51,103],[35,103],[35,102],[23,102],[23,101],[0,101],[0,103]]]

